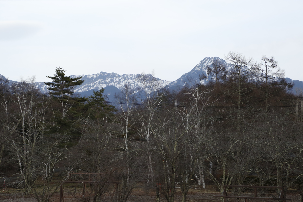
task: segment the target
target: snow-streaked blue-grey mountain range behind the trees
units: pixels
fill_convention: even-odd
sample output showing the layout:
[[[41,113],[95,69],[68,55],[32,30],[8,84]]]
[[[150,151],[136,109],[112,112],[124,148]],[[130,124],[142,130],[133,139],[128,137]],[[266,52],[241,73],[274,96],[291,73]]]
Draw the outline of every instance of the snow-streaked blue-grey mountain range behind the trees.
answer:
[[[195,85],[196,83],[205,84],[206,80],[200,80],[199,75],[205,74],[207,72],[207,67],[212,67],[213,62],[218,61],[221,64],[224,64],[226,70],[230,72],[232,68],[232,64],[227,63],[224,59],[219,57],[206,57],[198,65],[196,65],[191,71],[183,74],[179,79],[168,82],[163,81],[159,78],[156,78],[158,82],[164,87],[171,90],[180,90],[185,85]],[[77,86],[74,91],[75,93],[79,93],[81,96],[90,96],[93,94],[93,91],[97,91],[101,88],[105,88],[104,94],[108,96],[108,100],[114,101],[114,94],[121,92],[125,84],[128,84],[132,89],[137,89],[142,84],[138,81],[138,76],[140,74],[123,74],[119,75],[117,73],[107,73],[100,72],[98,74],[92,75],[72,75],[71,77],[79,77],[82,76],[82,80],[84,80],[83,84]],[[151,75],[148,75],[151,76]],[[5,78],[5,77],[3,77]],[[293,82],[295,84],[295,88],[303,89],[302,81],[293,81],[289,78],[286,78],[288,82]],[[10,83],[14,83],[16,81],[10,81]],[[37,82],[36,86],[42,91],[42,93],[48,93],[47,87],[44,82]],[[294,89],[295,89],[294,88]],[[294,90],[293,90],[294,91]],[[295,91],[294,91],[295,93]]]

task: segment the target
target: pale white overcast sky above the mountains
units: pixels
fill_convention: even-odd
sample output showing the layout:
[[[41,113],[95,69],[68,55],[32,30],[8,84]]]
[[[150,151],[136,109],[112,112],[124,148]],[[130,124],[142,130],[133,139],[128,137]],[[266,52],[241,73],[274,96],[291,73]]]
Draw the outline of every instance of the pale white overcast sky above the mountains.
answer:
[[[0,0],[0,74],[101,71],[173,81],[229,51],[275,56],[303,80],[302,0]]]

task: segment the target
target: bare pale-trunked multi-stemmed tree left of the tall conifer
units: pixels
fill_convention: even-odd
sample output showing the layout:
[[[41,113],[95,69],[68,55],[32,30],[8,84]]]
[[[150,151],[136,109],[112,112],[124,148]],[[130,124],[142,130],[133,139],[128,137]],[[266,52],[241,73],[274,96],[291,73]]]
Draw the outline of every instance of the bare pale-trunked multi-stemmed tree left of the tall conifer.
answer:
[[[14,84],[12,89],[12,102],[16,107],[11,114],[15,121],[10,129],[15,130],[15,136],[9,142],[15,150],[25,194],[28,194],[38,177],[36,153],[46,127],[45,109],[48,104],[36,96],[38,89],[34,85],[34,78]]]

